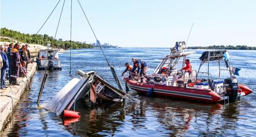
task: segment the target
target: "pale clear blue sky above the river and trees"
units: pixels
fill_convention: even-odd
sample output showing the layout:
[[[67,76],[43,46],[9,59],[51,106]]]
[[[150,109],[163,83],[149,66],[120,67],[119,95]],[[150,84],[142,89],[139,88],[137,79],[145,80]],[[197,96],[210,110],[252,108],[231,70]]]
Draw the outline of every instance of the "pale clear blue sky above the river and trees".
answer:
[[[59,0],[1,0],[1,28],[35,34]],[[61,7],[39,34],[54,36]],[[256,46],[256,1],[79,0],[101,43],[122,47]],[[77,0],[73,0],[72,40],[96,42]],[[70,40],[71,0],[66,0],[56,38]]]

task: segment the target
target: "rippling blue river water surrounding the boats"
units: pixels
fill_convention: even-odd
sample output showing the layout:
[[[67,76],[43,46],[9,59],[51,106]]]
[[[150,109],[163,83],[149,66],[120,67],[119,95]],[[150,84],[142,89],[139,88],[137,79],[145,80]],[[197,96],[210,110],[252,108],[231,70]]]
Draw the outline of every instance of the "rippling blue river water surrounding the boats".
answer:
[[[124,63],[133,57],[143,59],[152,73],[161,58],[169,53],[168,48],[116,48],[104,49],[106,58],[116,69],[119,78],[125,69]],[[203,50],[195,50],[187,58],[193,69],[199,67]],[[69,81],[69,52],[60,53],[61,71],[48,72],[40,104],[46,104]],[[229,50],[231,64],[241,68],[239,83],[256,91],[256,51]],[[72,50],[72,73],[97,71],[106,81],[115,85],[111,71],[100,49]],[[211,64],[213,66],[214,64]],[[216,64],[215,64],[216,65]],[[218,67],[212,67],[217,75]],[[205,69],[205,68],[202,68]],[[36,100],[44,71],[37,71],[27,91],[15,107],[13,115],[1,136],[255,136],[256,97],[255,92],[229,104],[205,104],[182,99],[147,97],[130,90],[129,94],[139,103],[126,102],[111,105],[91,106],[77,102],[76,111],[80,121],[68,124],[37,107]],[[223,73],[222,75],[224,75]],[[227,76],[227,75],[226,75]],[[225,77],[225,76],[224,76]],[[123,81],[122,84],[124,85]],[[123,86],[124,87],[124,86]]]

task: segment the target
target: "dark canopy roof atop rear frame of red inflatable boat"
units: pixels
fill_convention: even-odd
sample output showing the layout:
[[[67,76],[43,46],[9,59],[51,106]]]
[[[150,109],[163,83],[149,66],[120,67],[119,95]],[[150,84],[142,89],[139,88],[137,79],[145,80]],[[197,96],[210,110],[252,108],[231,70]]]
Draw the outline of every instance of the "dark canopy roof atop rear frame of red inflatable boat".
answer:
[[[226,50],[211,50],[211,51],[204,51],[202,56],[199,58],[200,61],[205,62],[208,61],[218,61],[222,60],[224,57],[224,53],[227,52]]]

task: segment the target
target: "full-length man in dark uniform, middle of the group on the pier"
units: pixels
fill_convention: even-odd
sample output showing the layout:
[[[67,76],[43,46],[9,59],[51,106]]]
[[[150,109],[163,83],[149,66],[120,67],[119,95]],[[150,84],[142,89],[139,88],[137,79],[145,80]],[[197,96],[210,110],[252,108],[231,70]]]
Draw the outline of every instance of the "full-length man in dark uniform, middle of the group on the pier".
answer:
[[[19,68],[22,67],[22,64],[20,63],[20,56],[19,56],[19,48],[20,45],[16,43],[14,45],[14,48],[10,51],[10,65],[11,65],[11,77],[10,77],[10,84],[12,85],[19,85],[17,81],[17,77],[19,74]]]

